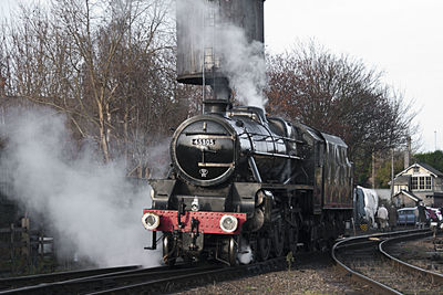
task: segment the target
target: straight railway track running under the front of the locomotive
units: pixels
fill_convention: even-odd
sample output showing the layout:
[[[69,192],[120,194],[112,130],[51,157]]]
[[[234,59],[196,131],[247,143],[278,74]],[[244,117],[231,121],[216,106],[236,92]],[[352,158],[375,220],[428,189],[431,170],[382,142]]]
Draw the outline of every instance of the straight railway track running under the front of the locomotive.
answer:
[[[69,274],[54,277],[35,276],[32,283],[20,285],[28,276],[14,278],[16,283],[4,284],[0,294],[163,294],[181,291],[213,282],[250,276],[255,274],[284,270],[284,257],[275,259],[250,265],[228,267],[225,265],[178,266],[140,268],[132,266],[130,270],[104,272],[101,274],[81,272],[69,278]],[[56,276],[59,275],[59,278]]]

